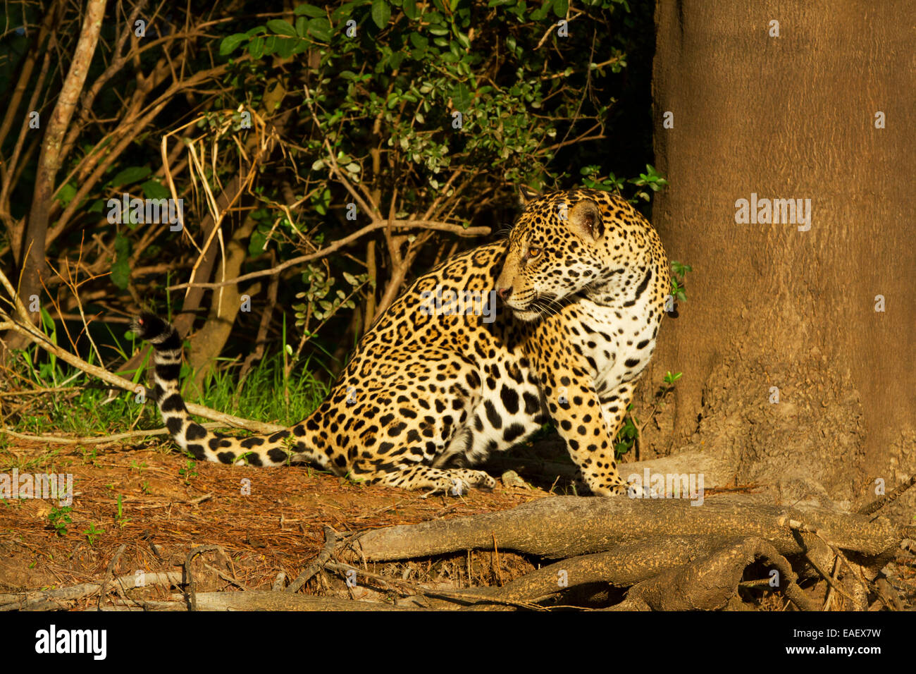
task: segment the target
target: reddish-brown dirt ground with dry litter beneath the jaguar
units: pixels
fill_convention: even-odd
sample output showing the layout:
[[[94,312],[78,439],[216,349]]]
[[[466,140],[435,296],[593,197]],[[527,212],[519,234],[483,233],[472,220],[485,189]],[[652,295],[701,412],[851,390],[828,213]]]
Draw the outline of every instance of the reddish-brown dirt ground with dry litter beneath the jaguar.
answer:
[[[71,473],[70,523],[57,531],[57,503],[40,499],[0,504],[0,593],[68,588],[119,576],[179,571],[199,546],[219,546],[194,558],[198,591],[269,590],[278,574],[297,577],[324,544],[323,527],[341,534],[436,518],[502,511],[549,496],[544,489],[504,486],[461,497],[362,485],[306,467],[251,468],[193,462],[169,443],[74,447],[16,441],[0,470]],[[562,492],[561,492],[562,493]],[[118,497],[121,510],[118,514]],[[97,533],[96,533],[97,532]],[[118,556],[121,546],[125,549]],[[109,569],[116,558],[114,566]],[[401,580],[462,588],[512,580],[533,565],[498,549],[425,563],[369,565]],[[342,578],[324,573],[307,594],[354,596]],[[167,600],[174,589],[148,586],[131,599]],[[359,592],[357,591],[358,595]],[[98,605],[99,596],[59,602],[62,608]]]

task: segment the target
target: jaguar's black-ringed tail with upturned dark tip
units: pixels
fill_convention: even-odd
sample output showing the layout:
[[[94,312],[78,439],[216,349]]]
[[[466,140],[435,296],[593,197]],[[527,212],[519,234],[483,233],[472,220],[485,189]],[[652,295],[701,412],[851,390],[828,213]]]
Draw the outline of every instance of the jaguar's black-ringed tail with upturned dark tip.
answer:
[[[131,331],[156,349],[153,397],[172,439],[194,459],[219,463],[245,460],[255,466],[277,466],[309,459],[304,452],[304,443],[292,442],[300,438],[291,438],[288,430],[270,436],[239,438],[214,433],[193,421],[181,398],[181,337],[178,331],[157,315],[146,312],[134,318]]]

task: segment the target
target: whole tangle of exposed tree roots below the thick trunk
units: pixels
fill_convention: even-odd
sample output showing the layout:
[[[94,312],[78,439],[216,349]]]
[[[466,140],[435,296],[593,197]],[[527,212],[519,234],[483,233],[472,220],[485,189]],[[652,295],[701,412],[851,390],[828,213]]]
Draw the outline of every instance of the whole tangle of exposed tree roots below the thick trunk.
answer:
[[[879,571],[913,527],[872,514],[838,514],[755,503],[736,494],[683,500],[555,497],[502,513],[390,526],[358,546],[374,561],[493,549],[559,559],[504,587],[452,593],[465,608],[524,608],[561,602],[573,588],[629,588],[617,610],[736,610],[748,568],[800,611],[837,600],[866,610],[869,596],[902,605]],[[820,594],[799,586],[823,580]],[[880,579],[878,579],[880,580]],[[829,588],[826,598],[823,589]],[[880,593],[878,592],[880,589]]]

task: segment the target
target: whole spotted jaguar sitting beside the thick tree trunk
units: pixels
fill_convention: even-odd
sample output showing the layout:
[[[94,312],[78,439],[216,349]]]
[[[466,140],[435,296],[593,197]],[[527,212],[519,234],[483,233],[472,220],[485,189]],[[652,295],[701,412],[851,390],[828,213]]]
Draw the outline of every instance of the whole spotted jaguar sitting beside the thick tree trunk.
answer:
[[[613,439],[655,348],[668,269],[655,230],[616,195],[538,197],[507,240],[413,282],[313,414],[244,439],[191,420],[175,329],[149,314],[134,329],[156,349],[154,396],[165,424],[196,459],[310,462],[357,480],[460,493],[495,486],[468,467],[552,419],[582,481],[609,495],[627,488]],[[471,291],[500,302],[491,317],[431,311],[425,298],[437,287],[444,297]]]

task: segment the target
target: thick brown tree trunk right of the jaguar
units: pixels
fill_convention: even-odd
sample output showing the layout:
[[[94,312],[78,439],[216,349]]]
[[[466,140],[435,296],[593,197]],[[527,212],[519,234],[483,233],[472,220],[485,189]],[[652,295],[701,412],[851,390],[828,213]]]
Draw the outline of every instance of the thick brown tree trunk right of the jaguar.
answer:
[[[694,271],[647,379],[683,377],[644,448],[725,452],[784,501],[911,475],[914,23],[909,0],[659,3],[653,221]],[[810,229],[762,199],[810,199]]]

